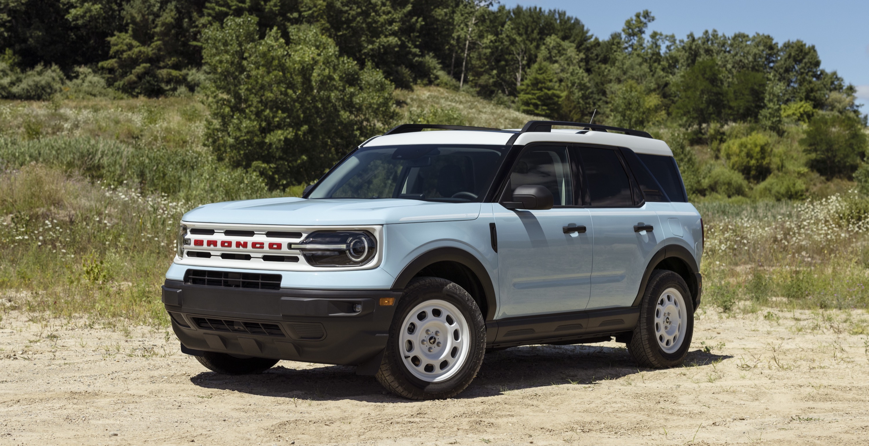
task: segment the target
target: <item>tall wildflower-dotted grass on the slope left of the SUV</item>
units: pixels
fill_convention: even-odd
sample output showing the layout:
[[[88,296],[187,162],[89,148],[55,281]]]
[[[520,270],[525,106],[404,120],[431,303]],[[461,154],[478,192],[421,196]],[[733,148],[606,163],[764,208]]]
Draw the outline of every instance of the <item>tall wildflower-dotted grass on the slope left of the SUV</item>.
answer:
[[[0,104],[0,292],[36,319],[168,323],[182,214],[279,196],[200,145],[193,100]]]

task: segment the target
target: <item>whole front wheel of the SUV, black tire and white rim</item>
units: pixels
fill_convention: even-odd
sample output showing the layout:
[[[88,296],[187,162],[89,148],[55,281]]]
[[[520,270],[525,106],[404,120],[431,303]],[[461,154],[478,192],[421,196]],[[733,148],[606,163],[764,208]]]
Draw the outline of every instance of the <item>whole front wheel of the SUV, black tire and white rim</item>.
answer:
[[[449,398],[474,380],[485,350],[486,323],[468,291],[417,278],[395,310],[377,381],[409,399]]]

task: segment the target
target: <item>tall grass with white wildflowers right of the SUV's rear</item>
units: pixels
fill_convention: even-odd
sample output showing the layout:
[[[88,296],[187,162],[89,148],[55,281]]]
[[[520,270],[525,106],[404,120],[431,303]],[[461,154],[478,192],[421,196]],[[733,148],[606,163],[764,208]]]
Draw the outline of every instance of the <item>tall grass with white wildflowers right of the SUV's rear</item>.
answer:
[[[700,203],[706,302],[729,311],[869,307],[869,200]]]

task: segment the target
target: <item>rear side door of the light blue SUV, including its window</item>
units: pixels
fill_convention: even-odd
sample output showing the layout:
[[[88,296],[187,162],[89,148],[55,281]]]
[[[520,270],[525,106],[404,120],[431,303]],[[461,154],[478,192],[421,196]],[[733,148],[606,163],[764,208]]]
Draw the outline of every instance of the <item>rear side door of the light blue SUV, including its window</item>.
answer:
[[[647,209],[615,148],[577,149],[594,225],[594,267],[587,309],[628,307],[640,290],[646,259],[661,237],[658,216]]]

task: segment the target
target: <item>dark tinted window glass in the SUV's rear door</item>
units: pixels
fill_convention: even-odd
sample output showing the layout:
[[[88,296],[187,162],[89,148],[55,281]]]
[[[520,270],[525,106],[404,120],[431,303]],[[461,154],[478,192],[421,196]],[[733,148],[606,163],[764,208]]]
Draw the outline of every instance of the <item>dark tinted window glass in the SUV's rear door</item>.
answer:
[[[615,150],[580,148],[591,205],[601,208],[634,206],[631,182]]]

